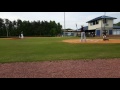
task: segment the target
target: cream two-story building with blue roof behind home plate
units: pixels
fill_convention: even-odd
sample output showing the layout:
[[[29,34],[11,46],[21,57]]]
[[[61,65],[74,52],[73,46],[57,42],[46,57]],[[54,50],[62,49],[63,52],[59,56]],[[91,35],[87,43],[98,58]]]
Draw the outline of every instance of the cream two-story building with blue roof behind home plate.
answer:
[[[88,31],[95,33],[95,36],[102,36],[103,31],[105,30],[107,35],[120,35],[120,27],[113,26],[115,17],[109,16],[100,16],[89,20]]]

